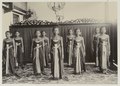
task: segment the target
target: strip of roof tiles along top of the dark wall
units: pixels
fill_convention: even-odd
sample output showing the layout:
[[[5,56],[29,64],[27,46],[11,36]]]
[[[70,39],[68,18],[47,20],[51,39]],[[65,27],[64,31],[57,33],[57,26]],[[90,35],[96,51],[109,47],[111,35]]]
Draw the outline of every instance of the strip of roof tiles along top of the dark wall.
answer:
[[[21,22],[17,22],[12,24],[11,26],[32,26],[32,25],[54,25],[54,24],[82,24],[82,23],[100,23],[100,21],[92,18],[83,18],[83,19],[76,19],[76,20],[66,20],[64,22],[52,22],[52,21],[43,21],[43,20],[24,20]]]

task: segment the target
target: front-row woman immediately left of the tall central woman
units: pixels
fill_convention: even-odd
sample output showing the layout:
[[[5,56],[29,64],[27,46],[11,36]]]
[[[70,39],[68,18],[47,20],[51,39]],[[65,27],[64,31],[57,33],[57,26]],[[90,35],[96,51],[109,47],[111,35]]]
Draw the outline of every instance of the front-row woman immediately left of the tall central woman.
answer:
[[[31,56],[33,59],[33,71],[35,75],[44,74],[44,55],[43,55],[43,39],[40,37],[39,30],[35,31],[35,38],[32,39]]]

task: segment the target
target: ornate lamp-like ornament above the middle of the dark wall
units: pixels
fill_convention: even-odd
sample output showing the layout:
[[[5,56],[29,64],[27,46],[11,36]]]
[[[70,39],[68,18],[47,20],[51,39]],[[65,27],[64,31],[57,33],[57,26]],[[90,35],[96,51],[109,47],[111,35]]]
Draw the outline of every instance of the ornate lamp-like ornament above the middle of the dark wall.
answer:
[[[64,16],[59,14],[59,11],[62,10],[65,6],[65,2],[48,2],[48,7],[55,12],[57,22],[60,22],[64,19]]]

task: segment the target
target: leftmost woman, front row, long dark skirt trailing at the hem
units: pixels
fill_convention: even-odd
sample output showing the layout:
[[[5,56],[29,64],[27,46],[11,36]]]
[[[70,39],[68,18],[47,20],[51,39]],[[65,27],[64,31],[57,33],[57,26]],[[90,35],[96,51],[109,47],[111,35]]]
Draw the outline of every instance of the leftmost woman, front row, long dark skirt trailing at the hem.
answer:
[[[14,39],[11,38],[12,34],[10,31],[6,31],[5,34],[6,38],[3,40],[3,72],[7,76],[15,75],[20,78],[15,70],[16,52]]]

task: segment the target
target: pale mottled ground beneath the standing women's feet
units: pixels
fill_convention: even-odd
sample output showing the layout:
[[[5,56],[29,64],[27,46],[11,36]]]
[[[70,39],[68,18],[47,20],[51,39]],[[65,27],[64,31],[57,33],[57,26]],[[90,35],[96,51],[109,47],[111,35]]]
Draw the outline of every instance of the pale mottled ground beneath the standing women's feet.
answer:
[[[45,68],[47,75],[35,76],[32,71],[32,65],[28,64],[25,68],[19,69],[17,72],[21,76],[20,79],[15,76],[3,76],[3,84],[117,84],[117,72],[108,71],[108,74],[98,72],[98,68],[93,64],[86,65],[87,71],[81,75],[74,75],[73,68],[65,67],[64,78],[61,80],[52,80],[50,68]],[[66,78],[67,77],[67,78]]]

